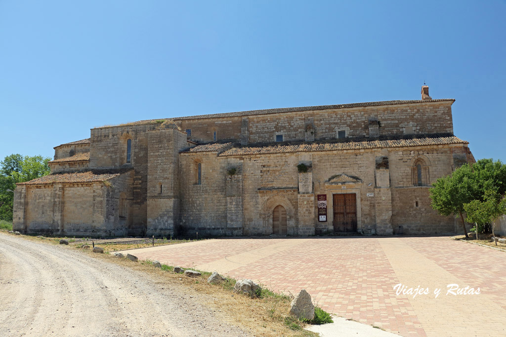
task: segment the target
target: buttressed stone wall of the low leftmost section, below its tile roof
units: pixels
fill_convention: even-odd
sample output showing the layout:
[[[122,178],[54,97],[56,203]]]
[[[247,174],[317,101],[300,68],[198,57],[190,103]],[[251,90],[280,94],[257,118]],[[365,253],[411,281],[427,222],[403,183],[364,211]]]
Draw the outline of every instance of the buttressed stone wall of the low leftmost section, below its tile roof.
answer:
[[[120,194],[132,204],[134,171],[106,182],[21,185],[16,187],[13,227],[26,233],[123,236],[132,216],[120,218]]]

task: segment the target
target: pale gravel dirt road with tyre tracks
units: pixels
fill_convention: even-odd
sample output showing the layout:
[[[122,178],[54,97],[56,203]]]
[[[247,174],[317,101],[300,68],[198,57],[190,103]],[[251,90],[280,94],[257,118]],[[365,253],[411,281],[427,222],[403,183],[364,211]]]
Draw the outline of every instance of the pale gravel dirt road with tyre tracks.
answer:
[[[175,285],[0,233],[1,336],[246,335]]]

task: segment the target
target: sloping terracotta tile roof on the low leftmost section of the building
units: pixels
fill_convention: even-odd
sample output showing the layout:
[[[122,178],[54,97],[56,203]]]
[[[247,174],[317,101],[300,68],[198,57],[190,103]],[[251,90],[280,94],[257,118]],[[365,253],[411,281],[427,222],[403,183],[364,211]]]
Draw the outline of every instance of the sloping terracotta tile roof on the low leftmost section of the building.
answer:
[[[100,182],[112,179],[118,175],[133,170],[133,168],[120,168],[109,170],[87,170],[78,172],[54,173],[36,178],[16,185],[48,185],[53,183]]]

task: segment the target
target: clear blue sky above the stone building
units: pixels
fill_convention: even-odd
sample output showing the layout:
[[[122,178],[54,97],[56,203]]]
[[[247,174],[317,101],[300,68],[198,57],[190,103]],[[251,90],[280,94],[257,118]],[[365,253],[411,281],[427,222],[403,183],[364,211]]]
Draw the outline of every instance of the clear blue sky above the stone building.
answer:
[[[506,162],[505,1],[0,0],[0,160],[90,128],[281,107],[454,98]]]

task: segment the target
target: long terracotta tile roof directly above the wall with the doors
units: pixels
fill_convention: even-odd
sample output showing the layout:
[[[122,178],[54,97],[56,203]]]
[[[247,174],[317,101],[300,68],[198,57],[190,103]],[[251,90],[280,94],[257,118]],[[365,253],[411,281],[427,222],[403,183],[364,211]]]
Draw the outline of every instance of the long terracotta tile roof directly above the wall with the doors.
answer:
[[[468,142],[465,140],[461,140],[455,136],[449,136],[449,137],[426,137],[426,138],[397,139],[397,140],[348,141],[348,142],[333,142],[333,143],[301,143],[298,145],[277,145],[258,148],[253,147],[232,148],[230,150],[221,153],[219,156],[225,157],[225,156],[264,155],[264,154],[290,153],[290,152],[404,148],[404,147],[447,145],[447,144],[468,144]]]

